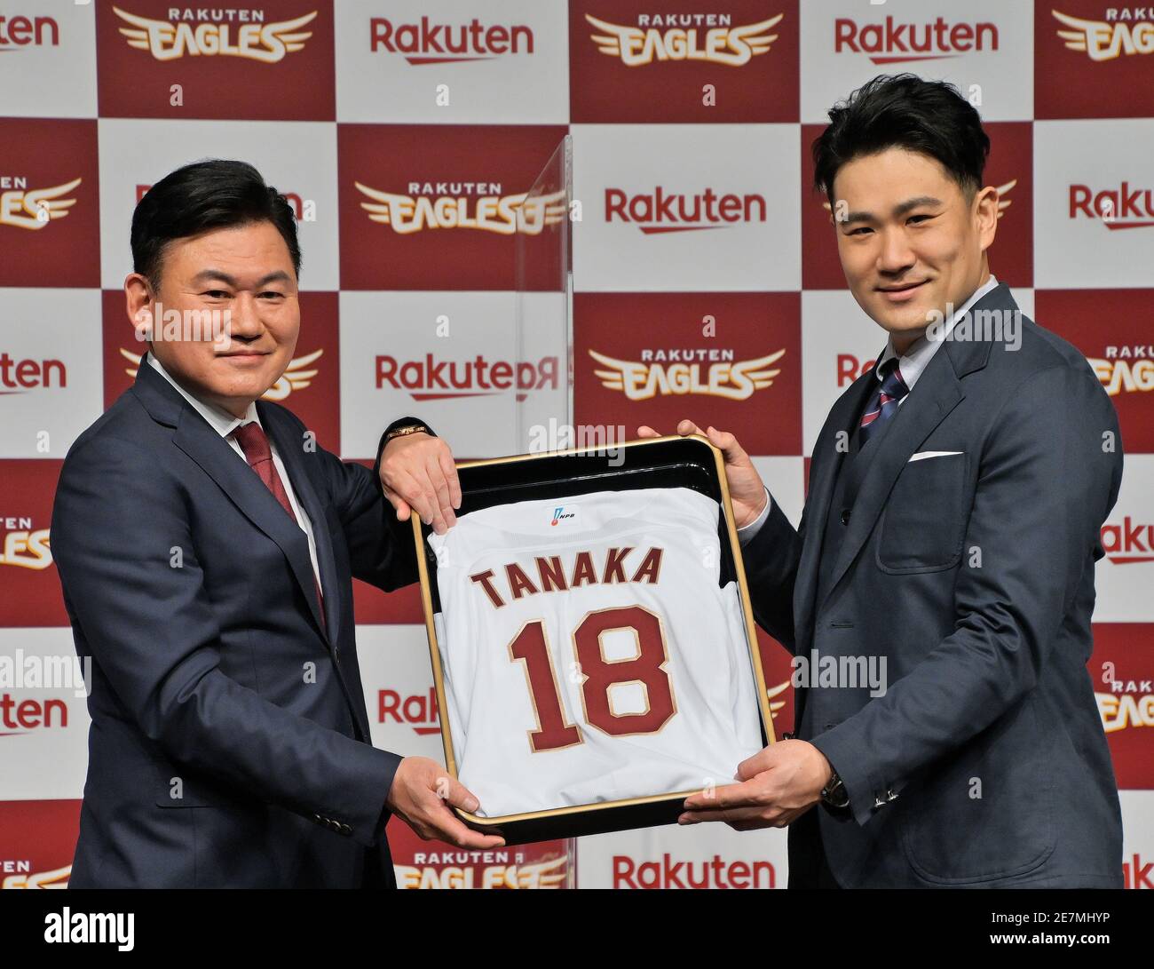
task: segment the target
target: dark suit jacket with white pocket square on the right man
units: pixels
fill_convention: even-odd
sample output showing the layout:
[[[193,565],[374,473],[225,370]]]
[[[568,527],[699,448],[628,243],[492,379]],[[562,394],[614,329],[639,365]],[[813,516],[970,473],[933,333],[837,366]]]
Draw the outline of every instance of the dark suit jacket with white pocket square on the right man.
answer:
[[[998,285],[972,312],[1017,308]],[[938,348],[850,462],[839,435],[877,387],[872,371],[856,380],[817,439],[799,529],[774,502],[744,549],[771,635],[797,656],[887,666],[884,695],[797,690],[799,735],[850,806],[794,822],[792,870],[824,847],[845,887],[1122,886],[1117,784],[1086,669],[1099,535],[1122,478],[1117,417],[1082,355],[1021,320],[1017,350]],[[911,462],[916,452],[960,454]]]

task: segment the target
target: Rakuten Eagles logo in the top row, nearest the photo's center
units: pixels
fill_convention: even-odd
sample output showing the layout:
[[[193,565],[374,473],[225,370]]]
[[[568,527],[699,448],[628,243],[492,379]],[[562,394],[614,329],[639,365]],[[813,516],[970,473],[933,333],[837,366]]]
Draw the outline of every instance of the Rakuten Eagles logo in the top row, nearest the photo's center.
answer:
[[[743,67],[770,50],[778,39],[770,33],[785,14],[733,27],[729,14],[640,14],[637,25],[616,24],[585,14],[598,33],[597,49],[625,67],[654,61],[698,60]]]

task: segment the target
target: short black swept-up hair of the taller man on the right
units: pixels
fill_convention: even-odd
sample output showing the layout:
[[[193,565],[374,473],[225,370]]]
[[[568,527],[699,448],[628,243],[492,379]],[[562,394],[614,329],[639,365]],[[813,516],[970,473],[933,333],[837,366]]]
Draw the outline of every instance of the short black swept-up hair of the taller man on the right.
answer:
[[[833,204],[838,170],[887,148],[935,158],[973,199],[982,187],[990,139],[974,105],[953,84],[879,74],[830,109],[829,127],[814,140],[814,187]]]

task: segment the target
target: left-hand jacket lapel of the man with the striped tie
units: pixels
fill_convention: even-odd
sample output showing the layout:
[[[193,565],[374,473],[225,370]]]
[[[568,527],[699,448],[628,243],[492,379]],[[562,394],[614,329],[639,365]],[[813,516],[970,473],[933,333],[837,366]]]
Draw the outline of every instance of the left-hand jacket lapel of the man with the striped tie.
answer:
[[[861,413],[870,393],[877,386],[874,370],[862,374],[833,404],[822,433],[814,445],[809,469],[809,494],[805,499],[805,542],[797,564],[794,582],[794,632],[799,642],[808,634],[817,596],[817,565],[825,539],[825,522],[833,500],[833,485],[846,459],[848,439],[839,432],[852,433],[853,422]],[[839,446],[840,445],[840,446]],[[855,460],[856,463],[856,460]]]

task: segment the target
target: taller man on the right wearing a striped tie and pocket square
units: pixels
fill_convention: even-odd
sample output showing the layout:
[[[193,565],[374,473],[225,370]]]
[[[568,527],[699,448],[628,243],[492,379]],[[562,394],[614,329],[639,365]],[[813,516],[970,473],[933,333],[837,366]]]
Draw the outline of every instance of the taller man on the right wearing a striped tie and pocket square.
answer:
[[[796,733],[682,821],[789,825],[790,887],[1121,888],[1086,669],[1114,408],[990,275],[998,199],[973,106],[881,76],[830,120],[816,182],[889,341],[822,428],[796,530],[733,434],[705,432],[754,613],[795,654]]]

